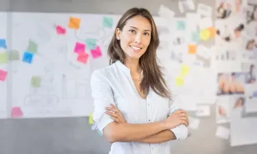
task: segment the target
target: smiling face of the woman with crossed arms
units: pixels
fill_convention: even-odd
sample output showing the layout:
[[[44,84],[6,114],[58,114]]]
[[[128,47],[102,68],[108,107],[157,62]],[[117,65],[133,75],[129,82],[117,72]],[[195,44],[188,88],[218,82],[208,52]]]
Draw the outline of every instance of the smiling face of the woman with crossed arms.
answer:
[[[123,30],[116,29],[117,39],[125,52],[125,59],[139,59],[151,41],[151,23],[143,16],[127,20]]]

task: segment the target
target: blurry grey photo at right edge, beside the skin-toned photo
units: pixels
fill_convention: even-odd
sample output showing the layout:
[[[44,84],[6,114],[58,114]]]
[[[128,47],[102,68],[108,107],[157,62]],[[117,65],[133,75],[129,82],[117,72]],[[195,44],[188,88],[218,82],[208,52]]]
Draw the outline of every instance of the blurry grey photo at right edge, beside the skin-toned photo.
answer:
[[[256,83],[256,65],[252,63],[243,63],[242,70],[245,72],[245,84]]]

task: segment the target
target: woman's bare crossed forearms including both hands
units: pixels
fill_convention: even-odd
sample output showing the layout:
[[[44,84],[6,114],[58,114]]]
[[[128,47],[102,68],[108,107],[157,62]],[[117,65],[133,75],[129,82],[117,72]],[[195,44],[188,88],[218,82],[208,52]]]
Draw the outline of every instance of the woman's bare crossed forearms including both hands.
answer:
[[[185,125],[179,123],[175,124],[176,122],[174,122],[174,126],[176,126],[174,129],[171,129],[171,124],[167,124],[169,122],[165,120],[157,123],[134,125],[126,123],[123,115],[114,105],[107,107],[106,110],[106,114],[111,116],[112,120],[114,120],[114,122],[106,125],[103,129],[103,136],[105,136],[109,142],[162,143],[177,139],[173,131],[180,133],[180,138],[186,138],[187,136],[187,119],[184,121]],[[181,116],[184,115],[184,111],[178,110],[173,114]],[[173,119],[179,117],[176,115],[173,115]],[[181,132],[184,133],[182,136]]]

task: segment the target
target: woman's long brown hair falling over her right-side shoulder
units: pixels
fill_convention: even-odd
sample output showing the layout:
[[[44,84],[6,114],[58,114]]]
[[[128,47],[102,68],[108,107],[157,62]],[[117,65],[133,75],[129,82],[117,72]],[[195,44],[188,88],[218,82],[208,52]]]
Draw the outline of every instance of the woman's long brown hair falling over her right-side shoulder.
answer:
[[[171,99],[171,93],[167,88],[166,81],[164,80],[164,77],[162,77],[163,73],[161,72],[160,66],[158,66],[156,60],[156,49],[158,48],[160,41],[156,24],[154,23],[154,18],[151,16],[150,12],[145,8],[131,8],[120,18],[116,29],[119,28],[122,31],[126,21],[138,15],[147,18],[151,23],[152,29],[151,40],[147,47],[147,51],[145,51],[139,59],[140,67],[143,70],[143,79],[140,83],[140,89],[143,90],[145,94],[148,94],[149,88],[151,88],[161,97]],[[112,36],[112,40],[108,47],[108,55],[110,57],[110,64],[113,64],[117,60],[121,61],[123,64],[125,62],[125,53],[123,49],[121,49],[120,40],[117,40],[115,33]]]

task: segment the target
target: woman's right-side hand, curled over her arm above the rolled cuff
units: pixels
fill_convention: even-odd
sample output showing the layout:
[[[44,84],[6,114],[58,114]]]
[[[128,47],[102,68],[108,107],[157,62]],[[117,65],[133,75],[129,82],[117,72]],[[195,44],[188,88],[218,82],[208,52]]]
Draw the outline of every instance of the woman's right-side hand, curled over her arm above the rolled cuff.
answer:
[[[173,129],[174,127],[177,127],[181,124],[184,124],[186,127],[188,127],[188,116],[184,110],[177,110],[164,120],[164,124],[168,129]]]

